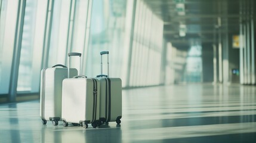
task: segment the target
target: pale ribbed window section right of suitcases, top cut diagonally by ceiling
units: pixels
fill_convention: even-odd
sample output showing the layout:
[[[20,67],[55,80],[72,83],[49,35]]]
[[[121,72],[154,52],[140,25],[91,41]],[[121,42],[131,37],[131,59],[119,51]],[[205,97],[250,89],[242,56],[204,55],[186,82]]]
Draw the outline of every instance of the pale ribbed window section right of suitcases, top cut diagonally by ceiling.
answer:
[[[164,24],[143,1],[136,10],[129,86],[159,85]]]

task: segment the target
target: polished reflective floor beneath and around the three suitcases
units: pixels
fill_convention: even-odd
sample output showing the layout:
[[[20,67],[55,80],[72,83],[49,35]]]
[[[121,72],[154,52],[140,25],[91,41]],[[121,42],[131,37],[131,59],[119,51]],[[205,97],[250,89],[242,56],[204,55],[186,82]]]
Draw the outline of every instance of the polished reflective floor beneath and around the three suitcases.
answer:
[[[256,86],[123,90],[122,123],[42,125],[39,101],[0,104],[0,142],[256,142]]]

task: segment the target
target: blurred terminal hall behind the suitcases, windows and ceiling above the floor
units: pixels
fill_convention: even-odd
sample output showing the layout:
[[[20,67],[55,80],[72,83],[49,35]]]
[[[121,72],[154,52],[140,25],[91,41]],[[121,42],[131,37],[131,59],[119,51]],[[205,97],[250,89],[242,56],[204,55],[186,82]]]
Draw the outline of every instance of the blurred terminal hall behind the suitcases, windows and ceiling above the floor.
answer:
[[[255,3],[0,0],[0,102],[38,99],[41,70],[67,65],[68,52],[81,52],[81,74],[95,77],[109,51],[109,77],[123,88],[255,85]]]

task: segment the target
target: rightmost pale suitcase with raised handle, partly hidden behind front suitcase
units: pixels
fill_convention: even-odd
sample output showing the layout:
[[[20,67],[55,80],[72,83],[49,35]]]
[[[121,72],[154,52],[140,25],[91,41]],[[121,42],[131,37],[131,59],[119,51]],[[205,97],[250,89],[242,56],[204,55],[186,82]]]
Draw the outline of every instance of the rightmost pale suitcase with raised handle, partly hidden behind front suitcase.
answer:
[[[107,75],[103,74],[102,56],[107,55]],[[100,121],[121,123],[122,118],[122,80],[109,77],[109,51],[100,52],[101,74],[100,81]]]

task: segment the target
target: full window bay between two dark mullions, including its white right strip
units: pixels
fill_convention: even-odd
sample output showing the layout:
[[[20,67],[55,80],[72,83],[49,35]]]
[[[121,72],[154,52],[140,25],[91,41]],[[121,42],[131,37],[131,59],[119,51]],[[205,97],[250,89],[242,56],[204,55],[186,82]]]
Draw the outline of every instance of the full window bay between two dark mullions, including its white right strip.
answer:
[[[17,92],[39,91],[46,9],[47,1],[26,1]]]

